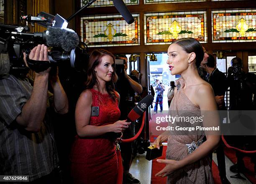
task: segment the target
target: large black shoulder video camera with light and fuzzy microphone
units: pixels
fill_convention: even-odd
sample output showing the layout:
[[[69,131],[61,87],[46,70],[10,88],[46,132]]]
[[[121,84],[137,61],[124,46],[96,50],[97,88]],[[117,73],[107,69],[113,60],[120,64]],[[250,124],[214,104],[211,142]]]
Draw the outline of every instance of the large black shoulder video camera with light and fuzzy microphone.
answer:
[[[29,67],[36,71],[44,70],[53,65],[73,67],[80,71],[89,60],[88,47],[79,42],[76,32],[67,28],[68,22],[60,15],[40,12],[37,17],[22,16],[26,26],[0,24],[0,52],[8,52],[10,58],[10,73],[26,73],[28,71],[23,62],[23,52],[27,55]],[[29,33],[28,23],[47,27],[44,32]],[[51,52],[49,61],[38,62],[29,60],[28,55],[38,44],[45,44]]]

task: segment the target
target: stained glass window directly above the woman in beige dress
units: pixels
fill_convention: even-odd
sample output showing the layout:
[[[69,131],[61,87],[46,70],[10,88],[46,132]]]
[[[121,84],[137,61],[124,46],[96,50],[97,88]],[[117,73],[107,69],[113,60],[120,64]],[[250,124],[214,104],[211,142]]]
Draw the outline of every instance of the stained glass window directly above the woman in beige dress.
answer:
[[[145,44],[166,44],[192,37],[205,43],[206,12],[170,12],[145,14]]]

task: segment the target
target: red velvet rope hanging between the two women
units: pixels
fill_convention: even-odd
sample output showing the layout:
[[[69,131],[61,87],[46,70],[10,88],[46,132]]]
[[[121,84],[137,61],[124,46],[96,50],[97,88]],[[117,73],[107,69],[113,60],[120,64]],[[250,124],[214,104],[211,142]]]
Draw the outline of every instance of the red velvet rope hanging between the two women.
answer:
[[[130,139],[123,139],[122,142],[132,142],[135,139],[138,138],[138,136],[141,134],[141,131],[144,127],[145,124],[145,117],[146,117],[146,112],[143,113],[143,117],[142,117],[142,123],[141,123],[141,128],[139,129],[139,131],[137,132],[137,134],[130,138]],[[122,184],[123,183],[123,163],[122,163],[122,157],[121,157],[121,152],[120,149],[116,151],[117,155],[118,155],[118,178],[117,178],[117,184]]]

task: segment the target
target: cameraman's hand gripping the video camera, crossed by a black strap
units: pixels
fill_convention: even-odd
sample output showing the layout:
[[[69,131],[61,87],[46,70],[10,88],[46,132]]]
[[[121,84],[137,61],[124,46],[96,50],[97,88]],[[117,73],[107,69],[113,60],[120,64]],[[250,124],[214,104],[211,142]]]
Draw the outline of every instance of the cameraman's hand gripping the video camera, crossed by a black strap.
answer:
[[[47,46],[45,46],[44,44],[42,44],[42,45],[38,44],[29,53],[29,59],[36,60],[36,61],[49,61]],[[23,60],[26,64],[26,66],[28,67],[25,52],[23,52]],[[39,73],[49,73],[50,70],[51,70],[51,67],[49,67],[47,70],[45,70],[43,72],[39,72]]]

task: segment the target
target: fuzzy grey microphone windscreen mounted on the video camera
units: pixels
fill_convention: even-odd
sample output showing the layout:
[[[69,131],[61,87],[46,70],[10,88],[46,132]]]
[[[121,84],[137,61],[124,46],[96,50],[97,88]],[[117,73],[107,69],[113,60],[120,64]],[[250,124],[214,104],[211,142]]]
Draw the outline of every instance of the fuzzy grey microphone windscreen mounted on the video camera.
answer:
[[[50,47],[61,47],[69,52],[79,44],[79,37],[71,29],[60,27],[48,27],[46,34],[46,44]]]

